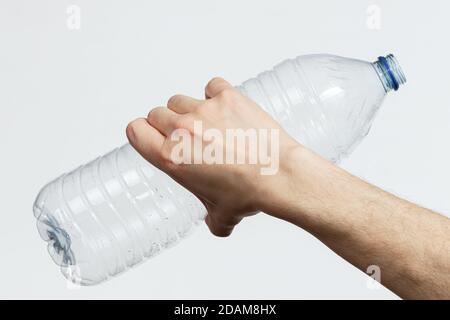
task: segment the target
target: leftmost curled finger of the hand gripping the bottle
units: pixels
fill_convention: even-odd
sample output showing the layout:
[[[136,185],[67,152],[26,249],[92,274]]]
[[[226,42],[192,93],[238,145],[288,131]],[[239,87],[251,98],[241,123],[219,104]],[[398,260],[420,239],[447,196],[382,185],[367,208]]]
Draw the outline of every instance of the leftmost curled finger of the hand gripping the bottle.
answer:
[[[127,127],[127,137],[133,148],[145,159],[159,167],[164,136],[147,119],[134,120]]]

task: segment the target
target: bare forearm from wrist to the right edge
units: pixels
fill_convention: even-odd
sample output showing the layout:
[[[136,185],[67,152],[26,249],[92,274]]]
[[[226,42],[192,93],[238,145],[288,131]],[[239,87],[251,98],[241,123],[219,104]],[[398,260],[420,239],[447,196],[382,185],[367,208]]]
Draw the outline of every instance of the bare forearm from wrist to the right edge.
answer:
[[[305,149],[286,163],[289,181],[279,182],[282,192],[263,202],[263,211],[307,230],[364,272],[378,266],[382,284],[403,298],[450,298],[448,218]]]

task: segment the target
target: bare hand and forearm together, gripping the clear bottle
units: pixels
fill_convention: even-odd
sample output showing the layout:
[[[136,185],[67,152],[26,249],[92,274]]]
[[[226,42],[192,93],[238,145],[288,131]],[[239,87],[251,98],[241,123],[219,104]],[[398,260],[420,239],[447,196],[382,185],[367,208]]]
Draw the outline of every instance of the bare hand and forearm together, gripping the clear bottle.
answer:
[[[167,107],[131,122],[127,136],[145,159],[202,201],[214,235],[228,236],[244,217],[265,212],[310,232],[363,272],[378,266],[382,285],[402,298],[450,298],[450,219],[370,185],[303,147],[225,80],[212,79],[205,96],[173,96]],[[194,121],[221,132],[278,129],[278,172],[262,175],[258,164],[177,163],[171,153],[177,142],[170,135],[186,129],[203,139],[193,130]]]

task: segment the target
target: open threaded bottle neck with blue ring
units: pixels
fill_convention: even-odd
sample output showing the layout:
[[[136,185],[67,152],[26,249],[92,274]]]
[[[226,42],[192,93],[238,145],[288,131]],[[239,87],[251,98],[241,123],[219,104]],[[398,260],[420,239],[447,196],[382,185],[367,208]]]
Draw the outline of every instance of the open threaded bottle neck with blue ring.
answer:
[[[378,60],[372,65],[386,92],[391,90],[397,91],[406,82],[405,74],[393,54],[389,54],[386,57],[378,57]]]

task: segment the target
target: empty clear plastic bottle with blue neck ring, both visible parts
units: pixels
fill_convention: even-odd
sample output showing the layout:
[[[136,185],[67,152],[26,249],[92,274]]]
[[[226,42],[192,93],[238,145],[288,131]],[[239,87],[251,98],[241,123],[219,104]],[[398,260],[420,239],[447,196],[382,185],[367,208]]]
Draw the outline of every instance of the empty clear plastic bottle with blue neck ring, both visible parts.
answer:
[[[337,162],[368,133],[386,93],[405,83],[393,55],[374,63],[306,55],[237,87],[303,145]],[[96,284],[186,236],[206,209],[129,144],[48,183],[34,203],[63,274]]]

